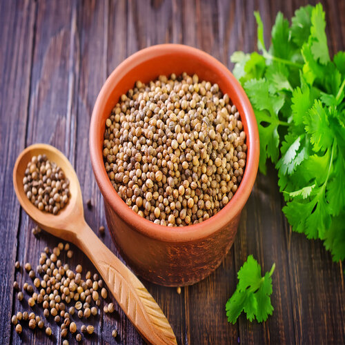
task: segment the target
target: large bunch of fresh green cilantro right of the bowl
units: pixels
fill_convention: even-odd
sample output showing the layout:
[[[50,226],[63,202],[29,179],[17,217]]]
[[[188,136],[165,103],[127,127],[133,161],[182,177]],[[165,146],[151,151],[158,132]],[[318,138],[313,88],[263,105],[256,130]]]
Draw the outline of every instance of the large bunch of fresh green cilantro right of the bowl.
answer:
[[[293,230],[322,239],[335,261],[345,259],[345,52],[328,52],[321,4],[291,20],[277,14],[271,43],[235,52],[234,75],[253,105],[260,136],[259,170],[278,170],[283,208]]]

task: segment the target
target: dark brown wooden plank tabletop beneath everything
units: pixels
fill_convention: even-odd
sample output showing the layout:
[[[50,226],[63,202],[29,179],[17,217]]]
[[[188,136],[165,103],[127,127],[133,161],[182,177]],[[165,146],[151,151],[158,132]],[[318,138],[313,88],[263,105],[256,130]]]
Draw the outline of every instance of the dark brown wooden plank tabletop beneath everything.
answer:
[[[14,262],[37,265],[45,246],[58,239],[31,233],[34,225],[19,207],[12,168],[19,152],[35,142],[56,146],[70,159],[92,210],[85,217],[97,235],[105,224],[101,193],[88,153],[88,127],[97,94],[110,72],[133,52],[156,43],[184,43],[201,48],[232,68],[235,50],[256,48],[253,11],[265,23],[266,41],[278,10],[291,17],[307,1],[0,1],[0,338],[2,344],[52,344],[37,330],[24,327],[21,337],[10,326],[14,311],[29,308],[12,291],[28,275],[14,272]],[[345,1],[322,1],[331,53],[345,50]],[[204,281],[181,289],[144,282],[166,314],[179,344],[344,344],[344,267],[333,263],[319,241],[291,233],[282,214],[282,197],[273,167],[258,175],[244,208],[235,244],[221,266]],[[101,237],[117,254],[110,234]],[[242,315],[226,321],[225,304],[235,290],[236,272],[253,254],[273,275],[273,316],[250,323]],[[64,258],[66,259],[66,258]],[[66,260],[67,261],[67,260]],[[75,248],[68,261],[92,264]],[[39,311],[36,308],[35,311]],[[80,328],[81,322],[77,322]],[[143,344],[119,306],[113,315],[95,319],[86,344]],[[117,328],[119,337],[111,337]],[[71,339],[70,339],[71,340]]]

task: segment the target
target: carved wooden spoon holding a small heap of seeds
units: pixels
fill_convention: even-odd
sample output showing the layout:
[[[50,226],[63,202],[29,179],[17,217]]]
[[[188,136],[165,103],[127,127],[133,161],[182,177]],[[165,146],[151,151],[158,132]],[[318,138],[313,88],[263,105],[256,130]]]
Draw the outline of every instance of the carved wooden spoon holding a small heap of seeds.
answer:
[[[57,215],[40,211],[23,190],[23,177],[28,162],[33,156],[43,154],[60,166],[70,180],[70,200]],[[86,224],[78,177],[62,152],[46,144],[29,146],[21,152],[14,164],[13,184],[21,206],[42,229],[83,250],[103,277],[117,303],[147,342],[177,344],[172,328],[155,299]]]

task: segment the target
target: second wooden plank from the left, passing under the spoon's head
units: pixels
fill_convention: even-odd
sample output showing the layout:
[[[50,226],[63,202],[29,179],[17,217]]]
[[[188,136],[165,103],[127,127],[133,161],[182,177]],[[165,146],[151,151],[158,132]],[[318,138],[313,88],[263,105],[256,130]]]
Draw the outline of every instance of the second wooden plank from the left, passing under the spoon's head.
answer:
[[[31,1],[30,1],[31,2]],[[75,87],[76,57],[74,52],[74,34],[76,30],[76,1],[37,1],[37,15],[32,52],[32,72],[29,117],[25,145],[44,142],[56,146],[68,158],[74,157],[76,116],[73,106]],[[31,228],[33,222],[21,210],[21,224],[18,236],[17,259],[21,263],[30,262],[32,267],[38,263],[39,252],[45,246],[53,248],[59,239],[42,233],[36,239]],[[65,254],[66,255],[66,254]],[[66,262],[66,256],[62,259]],[[30,282],[28,273],[17,273],[19,286]],[[28,295],[24,293],[24,299]],[[27,302],[14,300],[13,311],[30,311]],[[40,306],[32,311],[43,315]],[[12,327],[14,344],[55,344],[61,340],[59,325],[51,317],[46,326],[52,328],[53,336],[48,338],[42,331],[32,332],[23,326],[19,337]]]

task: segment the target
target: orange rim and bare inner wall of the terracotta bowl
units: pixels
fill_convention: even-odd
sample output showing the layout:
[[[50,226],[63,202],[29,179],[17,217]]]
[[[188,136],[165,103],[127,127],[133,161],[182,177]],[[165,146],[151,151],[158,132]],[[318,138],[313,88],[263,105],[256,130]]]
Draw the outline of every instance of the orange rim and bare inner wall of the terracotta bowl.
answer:
[[[117,195],[103,165],[103,132],[105,121],[119,97],[140,80],[144,83],[159,75],[196,73],[200,80],[218,83],[239,111],[246,132],[247,160],[244,176],[229,203],[206,221],[182,227],[154,224],[137,215]],[[222,63],[196,48],[178,44],[163,44],[140,50],[122,62],[108,77],[97,97],[90,124],[90,155],[97,184],[106,202],[138,232],[166,242],[188,242],[207,237],[235,217],[246,203],[253,188],[259,164],[259,135],[253,109],[242,86]]]

